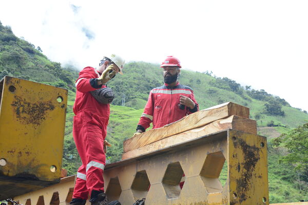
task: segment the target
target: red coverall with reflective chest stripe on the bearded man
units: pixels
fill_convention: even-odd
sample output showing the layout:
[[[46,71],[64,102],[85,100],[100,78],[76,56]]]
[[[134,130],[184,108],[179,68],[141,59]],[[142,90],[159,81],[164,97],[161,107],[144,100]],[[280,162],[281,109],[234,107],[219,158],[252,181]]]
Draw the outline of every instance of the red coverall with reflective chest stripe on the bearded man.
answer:
[[[195,108],[189,109],[185,106],[185,109],[180,109],[180,95],[189,97],[194,101]],[[199,110],[199,105],[194,97],[194,92],[188,86],[184,86],[177,83],[177,86],[170,88],[168,84],[161,86],[159,88],[154,88],[149,94],[147,104],[144,111],[140,117],[137,130],[141,129],[145,131],[150,123],[153,123],[153,129],[161,128],[171,122],[175,122],[184,116],[197,112]],[[183,188],[185,174],[180,182],[180,188]]]

